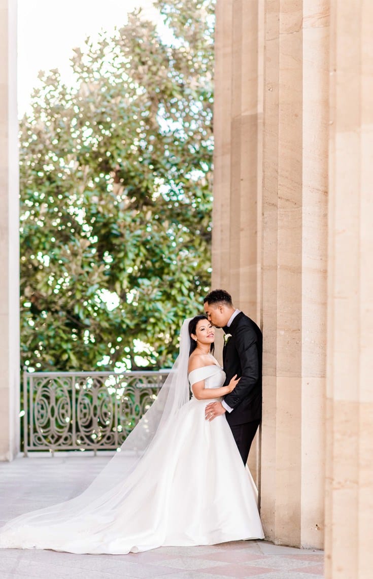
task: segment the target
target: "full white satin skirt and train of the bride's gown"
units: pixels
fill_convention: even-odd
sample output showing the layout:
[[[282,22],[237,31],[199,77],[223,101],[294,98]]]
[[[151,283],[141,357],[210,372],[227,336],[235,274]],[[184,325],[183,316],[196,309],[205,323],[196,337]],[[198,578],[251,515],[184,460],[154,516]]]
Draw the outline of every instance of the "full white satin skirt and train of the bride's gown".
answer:
[[[225,416],[205,420],[208,402],[192,398],[183,408],[176,442],[158,439],[125,496],[116,488],[65,519],[49,507],[40,524],[23,516],[0,530],[0,547],[126,554],[263,538],[253,479]]]

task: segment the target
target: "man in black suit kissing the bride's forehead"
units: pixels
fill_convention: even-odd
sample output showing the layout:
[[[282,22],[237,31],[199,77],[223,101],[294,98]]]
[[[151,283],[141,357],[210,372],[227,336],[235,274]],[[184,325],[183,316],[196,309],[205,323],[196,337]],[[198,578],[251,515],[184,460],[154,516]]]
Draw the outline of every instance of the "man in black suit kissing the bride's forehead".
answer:
[[[225,333],[224,386],[235,374],[240,378],[235,390],[222,402],[206,406],[206,420],[225,413],[246,464],[262,416],[262,332],[253,320],[233,307],[231,295],[225,290],[211,291],[204,298],[203,307],[211,324]]]

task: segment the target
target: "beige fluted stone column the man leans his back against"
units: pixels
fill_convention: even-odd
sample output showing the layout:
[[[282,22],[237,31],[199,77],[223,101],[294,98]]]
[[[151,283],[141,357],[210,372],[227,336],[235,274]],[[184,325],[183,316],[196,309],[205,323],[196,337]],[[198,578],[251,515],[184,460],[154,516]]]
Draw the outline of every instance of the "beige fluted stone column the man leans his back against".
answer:
[[[261,517],[323,547],[328,2],[266,0]]]

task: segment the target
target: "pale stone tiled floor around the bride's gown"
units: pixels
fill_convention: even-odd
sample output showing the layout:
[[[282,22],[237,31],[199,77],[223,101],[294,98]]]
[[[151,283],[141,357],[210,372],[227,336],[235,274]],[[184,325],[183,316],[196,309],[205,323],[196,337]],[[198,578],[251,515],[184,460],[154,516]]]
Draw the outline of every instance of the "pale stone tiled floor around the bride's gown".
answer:
[[[45,455],[0,463],[0,525],[35,508],[70,499],[84,489],[107,456]],[[130,555],[74,555],[0,549],[1,579],[321,579],[323,553],[237,541],[211,547],[161,547]]]

